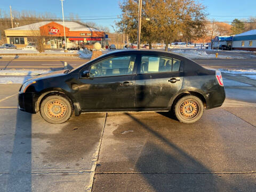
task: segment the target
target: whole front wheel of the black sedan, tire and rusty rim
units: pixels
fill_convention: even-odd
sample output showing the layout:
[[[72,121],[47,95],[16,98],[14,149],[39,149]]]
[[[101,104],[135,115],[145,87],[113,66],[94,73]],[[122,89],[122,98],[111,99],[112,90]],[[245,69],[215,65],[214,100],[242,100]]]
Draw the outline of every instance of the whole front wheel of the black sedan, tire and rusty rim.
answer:
[[[62,94],[51,94],[40,105],[43,119],[49,123],[65,123],[74,111],[71,100]]]

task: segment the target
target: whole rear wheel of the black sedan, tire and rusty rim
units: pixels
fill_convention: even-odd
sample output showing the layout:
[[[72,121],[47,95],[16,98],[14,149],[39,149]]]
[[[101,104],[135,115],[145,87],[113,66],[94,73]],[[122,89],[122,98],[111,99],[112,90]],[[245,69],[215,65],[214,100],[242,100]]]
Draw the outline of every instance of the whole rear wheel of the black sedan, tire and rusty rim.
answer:
[[[174,105],[174,114],[182,123],[195,123],[204,113],[204,104],[194,95],[185,95]]]

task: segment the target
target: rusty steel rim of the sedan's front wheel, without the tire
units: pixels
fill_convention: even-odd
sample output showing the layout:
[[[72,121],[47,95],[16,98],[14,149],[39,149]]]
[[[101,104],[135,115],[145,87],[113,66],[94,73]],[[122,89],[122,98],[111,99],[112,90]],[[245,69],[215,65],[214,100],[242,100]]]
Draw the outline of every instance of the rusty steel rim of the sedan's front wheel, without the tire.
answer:
[[[67,114],[67,105],[59,99],[52,99],[45,106],[45,113],[52,119],[61,119]]]

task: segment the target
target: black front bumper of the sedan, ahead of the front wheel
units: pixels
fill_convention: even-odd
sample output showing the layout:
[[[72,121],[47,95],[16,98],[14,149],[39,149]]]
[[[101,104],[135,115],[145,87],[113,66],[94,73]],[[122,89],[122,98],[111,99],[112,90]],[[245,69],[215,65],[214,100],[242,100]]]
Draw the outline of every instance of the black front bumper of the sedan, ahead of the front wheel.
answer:
[[[36,113],[35,93],[19,93],[19,109],[28,113]]]

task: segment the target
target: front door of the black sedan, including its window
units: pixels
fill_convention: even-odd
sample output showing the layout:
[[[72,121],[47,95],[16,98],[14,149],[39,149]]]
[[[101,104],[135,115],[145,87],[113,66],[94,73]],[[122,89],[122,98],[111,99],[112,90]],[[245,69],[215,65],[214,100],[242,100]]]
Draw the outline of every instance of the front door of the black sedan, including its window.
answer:
[[[135,107],[136,55],[119,55],[93,63],[90,77],[80,77],[82,110],[122,110]]]

